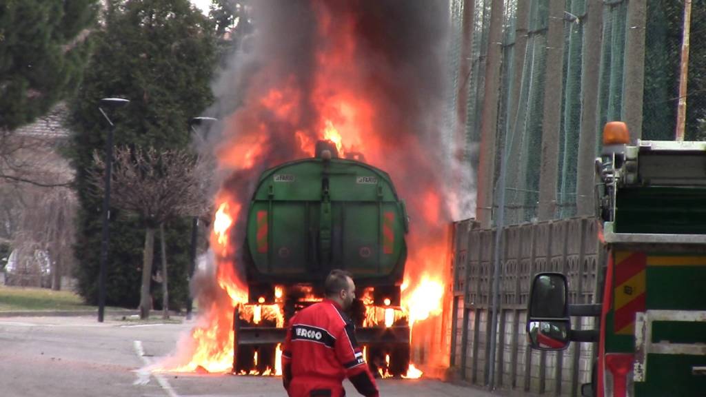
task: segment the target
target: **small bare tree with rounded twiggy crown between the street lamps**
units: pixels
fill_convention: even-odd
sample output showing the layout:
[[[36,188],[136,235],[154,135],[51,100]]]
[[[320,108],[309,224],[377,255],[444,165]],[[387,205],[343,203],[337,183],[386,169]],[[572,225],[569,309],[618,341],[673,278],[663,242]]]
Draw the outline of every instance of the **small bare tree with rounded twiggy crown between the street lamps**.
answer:
[[[97,152],[90,181],[104,192],[105,162]],[[162,288],[164,318],[169,317],[167,260],[164,249],[164,221],[184,215],[201,215],[208,209],[209,172],[206,163],[184,150],[146,150],[116,148],[111,177],[111,205],[137,214],[145,225],[145,248],[140,288],[140,318],[150,316],[150,278],[154,254],[155,229],[162,240]]]

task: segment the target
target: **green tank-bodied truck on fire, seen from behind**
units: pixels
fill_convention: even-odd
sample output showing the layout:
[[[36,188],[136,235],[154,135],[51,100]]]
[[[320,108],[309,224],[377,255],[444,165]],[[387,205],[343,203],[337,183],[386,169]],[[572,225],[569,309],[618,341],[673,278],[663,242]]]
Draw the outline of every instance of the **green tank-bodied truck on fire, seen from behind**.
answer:
[[[242,261],[248,302],[234,313],[234,372],[275,369],[289,319],[323,299],[333,268],[352,273],[352,319],[373,373],[409,369],[410,328],[400,287],[409,220],[390,176],[359,153],[340,158],[319,141],[315,156],[261,175],[248,209]]]

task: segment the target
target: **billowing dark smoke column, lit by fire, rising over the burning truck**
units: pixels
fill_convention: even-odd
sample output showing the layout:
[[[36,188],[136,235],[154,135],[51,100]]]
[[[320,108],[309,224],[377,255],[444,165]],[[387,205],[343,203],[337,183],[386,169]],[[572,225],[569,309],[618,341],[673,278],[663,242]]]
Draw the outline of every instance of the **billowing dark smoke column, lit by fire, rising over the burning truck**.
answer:
[[[210,111],[221,120],[210,136],[223,175],[215,202],[237,206],[232,251],[217,266],[241,263],[245,213],[261,172],[311,157],[314,143],[335,131],[345,153],[362,153],[388,172],[407,201],[405,282],[429,273],[445,280],[448,223],[467,211],[462,197],[473,193],[459,188],[469,186],[462,177],[469,170],[442,144],[449,141],[448,4],[257,0],[251,7],[255,31],[215,83]],[[199,302],[213,307],[206,297]]]

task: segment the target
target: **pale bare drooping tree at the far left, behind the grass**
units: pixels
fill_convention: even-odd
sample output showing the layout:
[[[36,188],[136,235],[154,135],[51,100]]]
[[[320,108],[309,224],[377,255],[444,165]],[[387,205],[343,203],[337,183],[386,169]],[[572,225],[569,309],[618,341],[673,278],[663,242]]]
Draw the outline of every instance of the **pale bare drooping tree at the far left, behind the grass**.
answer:
[[[57,150],[68,136],[65,111],[58,105],[20,129],[0,129],[0,237],[11,242],[18,275],[27,278],[20,283],[39,286],[50,269],[55,290],[73,263],[78,205],[68,188],[73,170]]]

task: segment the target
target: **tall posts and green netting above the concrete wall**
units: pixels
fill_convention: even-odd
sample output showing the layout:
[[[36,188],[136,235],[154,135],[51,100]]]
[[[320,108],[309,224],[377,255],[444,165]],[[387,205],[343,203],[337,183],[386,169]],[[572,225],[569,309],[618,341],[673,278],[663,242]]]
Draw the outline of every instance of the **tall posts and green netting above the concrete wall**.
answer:
[[[493,13],[501,14],[498,36]],[[479,198],[488,190],[496,197],[508,155],[506,223],[590,215],[594,179],[587,167],[606,122],[628,122],[633,139],[674,139],[683,1],[450,0],[450,14],[448,130],[472,173],[484,172],[481,158],[492,150],[489,174],[477,177]],[[688,140],[706,139],[704,32],[706,0],[693,0]],[[495,71],[500,77],[488,80]],[[497,112],[484,129],[489,107]],[[587,204],[578,208],[582,199]],[[496,218],[494,201],[479,199],[484,226]]]

